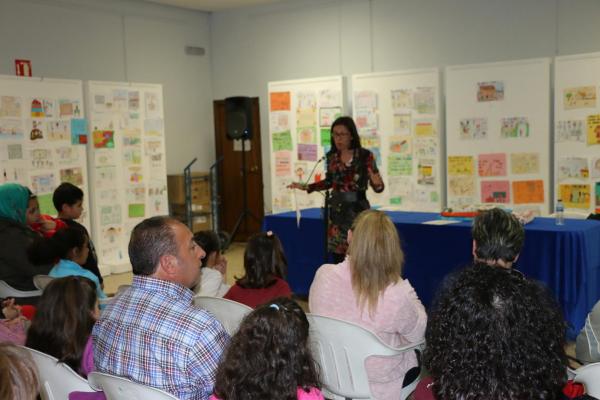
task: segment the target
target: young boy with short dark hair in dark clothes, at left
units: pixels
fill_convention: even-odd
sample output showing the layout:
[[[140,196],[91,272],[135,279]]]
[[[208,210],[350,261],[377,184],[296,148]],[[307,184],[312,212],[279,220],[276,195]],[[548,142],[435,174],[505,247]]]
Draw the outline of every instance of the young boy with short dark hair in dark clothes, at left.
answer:
[[[102,275],[98,269],[98,258],[96,258],[96,251],[94,250],[92,238],[87,229],[79,222],[75,221],[77,218],[81,217],[81,213],[83,212],[83,191],[71,183],[63,182],[54,191],[52,202],[54,203],[56,211],[58,211],[59,219],[64,221],[68,226],[79,226],[86,232],[90,251],[88,258],[82,267],[93,272],[94,275],[98,277],[100,285],[103,286]]]

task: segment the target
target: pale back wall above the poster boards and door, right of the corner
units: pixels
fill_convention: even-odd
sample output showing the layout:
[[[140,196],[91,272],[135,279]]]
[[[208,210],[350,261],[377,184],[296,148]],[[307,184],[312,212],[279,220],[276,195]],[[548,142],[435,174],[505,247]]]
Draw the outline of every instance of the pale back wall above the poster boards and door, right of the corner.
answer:
[[[294,0],[219,12],[213,96],[260,97],[270,210],[267,82],[600,51],[599,19],[598,0]]]

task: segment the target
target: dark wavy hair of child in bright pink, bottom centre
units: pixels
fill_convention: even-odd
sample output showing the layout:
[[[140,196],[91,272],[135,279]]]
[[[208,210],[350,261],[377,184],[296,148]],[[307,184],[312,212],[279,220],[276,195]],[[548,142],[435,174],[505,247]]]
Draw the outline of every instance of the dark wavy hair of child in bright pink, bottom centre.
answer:
[[[221,400],[296,400],[299,387],[320,387],[308,320],[293,300],[278,298],[244,318],[217,368],[214,394]]]

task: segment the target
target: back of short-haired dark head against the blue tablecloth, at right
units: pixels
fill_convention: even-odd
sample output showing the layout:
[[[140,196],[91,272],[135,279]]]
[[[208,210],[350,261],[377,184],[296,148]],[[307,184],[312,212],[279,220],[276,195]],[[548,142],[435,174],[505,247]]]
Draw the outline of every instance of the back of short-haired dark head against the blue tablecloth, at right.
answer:
[[[509,212],[493,208],[481,212],[473,221],[473,260],[511,268],[519,258],[525,241],[525,229]]]

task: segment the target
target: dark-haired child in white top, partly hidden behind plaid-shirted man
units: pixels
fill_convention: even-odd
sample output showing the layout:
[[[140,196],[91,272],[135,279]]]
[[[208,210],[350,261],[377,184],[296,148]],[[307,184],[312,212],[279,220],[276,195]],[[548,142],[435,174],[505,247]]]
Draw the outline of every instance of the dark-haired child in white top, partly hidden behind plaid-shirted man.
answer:
[[[219,237],[213,231],[194,234],[194,241],[206,253],[200,266],[200,283],[193,289],[199,296],[223,297],[231,287],[225,283],[227,259],[221,253]]]

